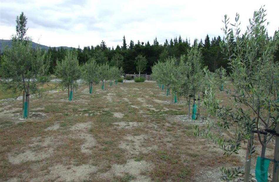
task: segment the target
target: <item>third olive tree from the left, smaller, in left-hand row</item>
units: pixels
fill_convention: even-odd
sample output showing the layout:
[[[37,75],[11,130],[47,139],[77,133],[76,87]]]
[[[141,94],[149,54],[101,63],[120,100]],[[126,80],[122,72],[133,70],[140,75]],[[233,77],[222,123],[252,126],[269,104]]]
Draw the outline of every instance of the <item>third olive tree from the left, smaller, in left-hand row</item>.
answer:
[[[98,66],[95,59],[90,58],[89,61],[83,65],[82,69],[82,78],[89,83],[89,93],[93,93],[93,84],[98,84],[100,82],[98,77]]]

